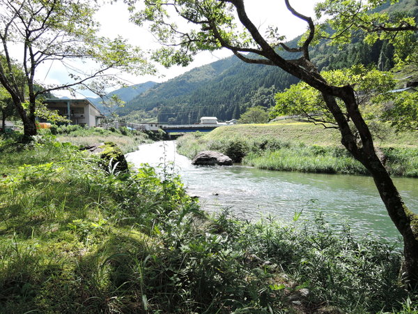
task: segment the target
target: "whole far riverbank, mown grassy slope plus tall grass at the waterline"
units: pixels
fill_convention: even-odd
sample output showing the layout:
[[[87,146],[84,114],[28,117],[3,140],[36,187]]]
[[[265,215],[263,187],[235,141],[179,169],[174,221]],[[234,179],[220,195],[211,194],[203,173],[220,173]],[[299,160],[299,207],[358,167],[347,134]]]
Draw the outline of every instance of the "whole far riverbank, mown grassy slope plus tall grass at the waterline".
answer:
[[[385,124],[375,128],[375,141],[387,157],[389,172],[418,177],[418,132],[394,133]],[[179,153],[189,158],[203,150],[221,151],[236,162],[261,169],[367,174],[339,144],[337,130],[303,122],[225,126],[178,140]]]

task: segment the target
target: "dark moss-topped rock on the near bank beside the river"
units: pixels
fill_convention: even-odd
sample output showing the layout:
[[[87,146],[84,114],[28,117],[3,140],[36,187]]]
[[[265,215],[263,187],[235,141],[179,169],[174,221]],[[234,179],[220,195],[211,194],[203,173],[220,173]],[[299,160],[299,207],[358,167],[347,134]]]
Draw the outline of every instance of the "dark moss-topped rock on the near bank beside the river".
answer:
[[[104,142],[100,145],[103,151],[100,153],[102,167],[109,173],[129,172],[127,161],[121,149],[114,142]]]

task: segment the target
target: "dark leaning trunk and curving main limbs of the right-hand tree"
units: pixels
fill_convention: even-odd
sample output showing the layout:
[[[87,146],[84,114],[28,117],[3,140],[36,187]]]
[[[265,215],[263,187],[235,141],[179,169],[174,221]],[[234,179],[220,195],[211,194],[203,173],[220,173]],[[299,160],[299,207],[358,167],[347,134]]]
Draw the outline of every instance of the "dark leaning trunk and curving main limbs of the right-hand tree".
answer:
[[[219,40],[222,46],[232,50],[234,54],[242,61],[247,63],[265,64],[268,66],[277,66],[287,73],[294,75],[303,82],[306,82],[314,89],[320,91],[323,95],[327,109],[332,113],[341,133],[341,143],[354,158],[359,160],[373,176],[380,197],[385,204],[387,212],[392,218],[394,225],[401,233],[404,242],[404,262],[403,262],[403,280],[408,283],[408,287],[413,288],[418,284],[418,215],[413,214],[402,201],[398,190],[393,184],[389,173],[380,159],[376,155],[369,127],[359,112],[358,103],[354,95],[353,87],[338,87],[329,84],[319,73],[318,68],[311,63],[309,58],[309,45],[314,39],[315,25],[311,17],[304,16],[294,10],[289,1],[286,0],[286,6],[293,15],[304,20],[309,24],[309,36],[303,45],[298,48],[290,48],[282,45],[288,52],[302,53],[303,57],[299,59],[286,60],[276,53],[274,47],[265,40],[255,24],[251,22],[243,0],[229,0],[235,6],[238,17],[242,25],[249,31],[252,38],[259,45],[260,49],[246,50],[241,47],[234,47],[228,40],[222,37],[219,29],[215,27],[216,22],[212,23],[212,30],[215,38]],[[248,54],[241,52],[253,52],[265,59],[251,58]],[[343,112],[336,103],[336,98],[343,100],[346,112]],[[353,121],[355,127],[350,128],[348,121]],[[359,135],[359,139],[356,136]]]

